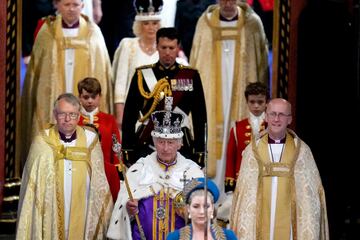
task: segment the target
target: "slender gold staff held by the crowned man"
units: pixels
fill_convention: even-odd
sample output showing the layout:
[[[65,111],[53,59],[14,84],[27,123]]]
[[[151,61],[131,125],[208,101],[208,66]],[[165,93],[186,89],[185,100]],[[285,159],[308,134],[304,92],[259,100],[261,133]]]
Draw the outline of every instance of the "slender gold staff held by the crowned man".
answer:
[[[129,199],[130,201],[133,201],[134,200],[134,197],[132,196],[132,193],[131,193],[131,189],[130,189],[130,186],[129,186],[129,182],[127,180],[127,177],[126,177],[126,167],[125,167],[125,164],[122,162],[122,158],[121,158],[121,144],[118,142],[117,138],[116,138],[116,135],[113,134],[112,135],[112,140],[113,140],[113,146],[112,146],[112,150],[116,153],[118,159],[119,159],[119,163],[120,163],[120,171],[124,177],[124,182],[125,182],[125,186],[126,186],[126,190],[128,192],[128,195],[129,195]],[[140,219],[139,219],[139,215],[138,213],[135,213],[135,220],[136,220],[136,223],[139,227],[139,232],[140,232],[140,238],[141,240],[146,240],[145,238],[145,233],[144,233],[144,229],[140,223]]]

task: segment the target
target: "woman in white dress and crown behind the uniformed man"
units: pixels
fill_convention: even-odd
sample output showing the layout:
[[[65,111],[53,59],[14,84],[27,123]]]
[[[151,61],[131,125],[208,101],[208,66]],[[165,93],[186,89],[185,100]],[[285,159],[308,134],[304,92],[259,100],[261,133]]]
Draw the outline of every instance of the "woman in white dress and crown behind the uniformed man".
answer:
[[[123,38],[113,61],[115,80],[115,113],[119,129],[130,80],[135,69],[141,65],[157,62],[156,31],[160,28],[162,0],[137,0],[134,3],[136,16],[133,24],[135,38]]]

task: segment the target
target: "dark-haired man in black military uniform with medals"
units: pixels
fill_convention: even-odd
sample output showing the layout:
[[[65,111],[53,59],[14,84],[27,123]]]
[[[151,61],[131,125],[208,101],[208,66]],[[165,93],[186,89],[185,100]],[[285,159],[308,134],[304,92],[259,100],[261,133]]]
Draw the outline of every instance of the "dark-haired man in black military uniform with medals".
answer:
[[[153,152],[151,113],[164,110],[166,96],[172,111],[185,116],[180,153],[204,165],[206,106],[199,72],[176,62],[179,35],[175,28],[156,33],[159,61],[136,69],[125,101],[122,124],[123,156],[127,165]]]

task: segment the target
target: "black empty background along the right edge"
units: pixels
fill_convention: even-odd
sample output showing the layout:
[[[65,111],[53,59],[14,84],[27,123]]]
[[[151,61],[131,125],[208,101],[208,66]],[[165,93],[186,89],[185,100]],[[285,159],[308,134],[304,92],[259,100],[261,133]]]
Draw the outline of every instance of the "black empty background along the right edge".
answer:
[[[331,239],[360,239],[359,1],[310,0],[299,19],[297,133],[311,147]]]

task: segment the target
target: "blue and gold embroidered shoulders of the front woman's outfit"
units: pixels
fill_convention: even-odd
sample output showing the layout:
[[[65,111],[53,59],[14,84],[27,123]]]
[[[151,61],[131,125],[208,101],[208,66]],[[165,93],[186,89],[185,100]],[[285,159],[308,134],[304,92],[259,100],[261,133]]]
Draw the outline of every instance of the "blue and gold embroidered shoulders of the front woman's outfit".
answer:
[[[237,240],[235,233],[232,230],[222,228],[216,224],[211,225],[211,235],[216,240]],[[192,226],[191,224],[180,228],[167,235],[166,240],[191,240],[192,239]]]

